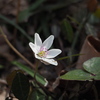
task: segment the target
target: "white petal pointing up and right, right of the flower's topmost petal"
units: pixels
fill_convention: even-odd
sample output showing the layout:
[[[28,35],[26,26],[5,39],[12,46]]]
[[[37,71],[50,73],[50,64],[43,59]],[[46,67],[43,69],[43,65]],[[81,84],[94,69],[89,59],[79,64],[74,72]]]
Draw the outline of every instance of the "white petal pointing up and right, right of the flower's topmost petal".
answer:
[[[53,43],[54,36],[49,36],[42,44],[42,47],[45,47],[46,49],[49,49]]]

